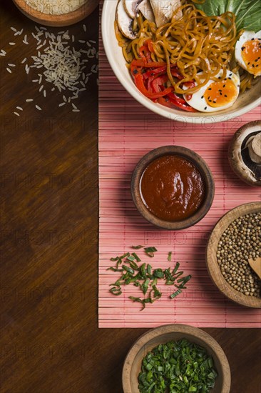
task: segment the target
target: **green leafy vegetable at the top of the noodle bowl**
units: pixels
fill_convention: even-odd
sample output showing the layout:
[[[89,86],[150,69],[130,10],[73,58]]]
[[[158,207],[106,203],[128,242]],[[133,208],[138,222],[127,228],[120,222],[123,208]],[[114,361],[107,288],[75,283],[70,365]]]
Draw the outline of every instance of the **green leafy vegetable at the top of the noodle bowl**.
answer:
[[[230,11],[236,15],[237,30],[261,30],[260,0],[205,0],[203,4],[195,4],[208,16],[218,16]]]

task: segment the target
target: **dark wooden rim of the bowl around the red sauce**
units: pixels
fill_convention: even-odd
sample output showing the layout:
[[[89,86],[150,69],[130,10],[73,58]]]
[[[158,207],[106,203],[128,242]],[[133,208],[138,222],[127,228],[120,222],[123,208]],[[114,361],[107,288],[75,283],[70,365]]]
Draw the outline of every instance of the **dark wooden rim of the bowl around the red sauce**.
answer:
[[[150,164],[150,162],[158,159],[161,156],[168,155],[176,155],[183,156],[188,161],[192,162],[196,168],[200,171],[201,176],[203,177],[205,183],[205,199],[203,203],[200,205],[199,209],[190,217],[180,221],[165,221],[158,217],[155,217],[154,214],[150,213],[149,210],[143,204],[143,201],[140,197],[140,179],[143,174],[145,168]],[[192,227],[197,224],[210,210],[210,207],[213,204],[213,199],[215,196],[215,181],[213,178],[213,174],[210,171],[210,167],[205,162],[205,160],[197,154],[195,151],[188,149],[184,146],[178,145],[167,145],[160,146],[153,150],[148,151],[138,164],[136,164],[135,169],[133,170],[133,174],[131,176],[131,197],[135,204],[135,207],[138,209],[138,212],[142,215],[144,219],[146,219],[151,224],[154,224],[156,227],[169,229],[169,230],[181,230]]]

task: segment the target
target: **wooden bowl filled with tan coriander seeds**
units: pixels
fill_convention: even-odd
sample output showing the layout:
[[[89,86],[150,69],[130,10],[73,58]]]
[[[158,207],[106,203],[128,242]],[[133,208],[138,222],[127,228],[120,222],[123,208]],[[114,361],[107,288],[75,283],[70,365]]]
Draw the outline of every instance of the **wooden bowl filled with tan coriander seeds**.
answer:
[[[206,262],[213,283],[228,299],[261,308],[260,286],[249,259],[260,257],[261,202],[227,212],[208,240]]]

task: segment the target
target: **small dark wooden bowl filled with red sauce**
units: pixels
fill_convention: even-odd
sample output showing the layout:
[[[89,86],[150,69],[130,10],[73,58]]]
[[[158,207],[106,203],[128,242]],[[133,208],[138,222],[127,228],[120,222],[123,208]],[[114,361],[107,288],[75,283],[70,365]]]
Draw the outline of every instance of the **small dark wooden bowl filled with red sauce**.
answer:
[[[180,230],[208,213],[215,194],[213,175],[202,157],[183,146],[162,146],[138,162],[131,194],[140,214],[156,227]]]

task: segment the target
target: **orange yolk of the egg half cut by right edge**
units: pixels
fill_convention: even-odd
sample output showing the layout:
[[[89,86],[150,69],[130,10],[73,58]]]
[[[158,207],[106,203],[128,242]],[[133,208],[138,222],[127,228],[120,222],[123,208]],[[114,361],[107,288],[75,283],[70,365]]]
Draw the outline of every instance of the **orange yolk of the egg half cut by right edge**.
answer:
[[[247,71],[250,74],[260,74],[261,72],[261,40],[251,39],[245,41],[241,47],[242,59],[245,62]]]

